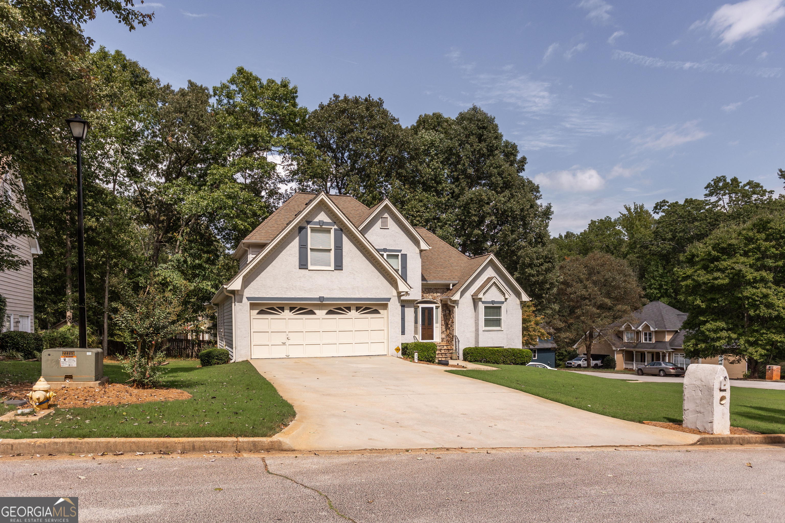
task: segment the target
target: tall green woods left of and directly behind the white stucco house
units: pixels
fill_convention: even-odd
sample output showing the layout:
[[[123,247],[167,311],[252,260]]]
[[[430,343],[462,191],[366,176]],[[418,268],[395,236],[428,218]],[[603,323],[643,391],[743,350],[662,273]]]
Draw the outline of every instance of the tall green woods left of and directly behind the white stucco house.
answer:
[[[230,252],[294,191],[368,206],[390,198],[462,252],[495,252],[532,296],[553,292],[550,205],[480,107],[403,127],[381,99],[335,95],[309,111],[287,78],[243,67],[220,85],[173,89],[120,51],[91,51],[82,35],[95,9],[130,29],[147,24],[130,2],[3,0],[0,9],[16,38],[0,42],[14,51],[0,58],[0,154],[24,183],[42,245],[39,328],[75,321],[78,310],[75,146],[64,122],[77,112],[91,124],[82,145],[87,321],[104,338],[123,337],[118,323],[133,323],[129,307],[149,308],[144,296],[183,296],[177,323],[207,314],[237,269]]]

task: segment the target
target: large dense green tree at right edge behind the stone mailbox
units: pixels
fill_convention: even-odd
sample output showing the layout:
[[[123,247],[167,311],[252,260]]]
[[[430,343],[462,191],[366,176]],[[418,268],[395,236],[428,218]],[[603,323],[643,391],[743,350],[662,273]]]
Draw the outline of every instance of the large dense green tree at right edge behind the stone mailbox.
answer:
[[[685,353],[747,358],[785,356],[785,217],[765,214],[721,227],[691,245],[677,277],[687,302]]]

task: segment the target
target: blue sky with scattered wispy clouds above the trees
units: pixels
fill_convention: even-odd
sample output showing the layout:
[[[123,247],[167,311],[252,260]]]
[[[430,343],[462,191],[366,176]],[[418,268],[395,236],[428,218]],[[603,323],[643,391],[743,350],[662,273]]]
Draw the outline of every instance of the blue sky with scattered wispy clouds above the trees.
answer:
[[[148,27],[86,26],[162,82],[242,65],[300,103],[382,97],[403,125],[477,104],[528,158],[551,231],[624,204],[700,198],[714,176],[778,192],[785,0],[145,2]]]

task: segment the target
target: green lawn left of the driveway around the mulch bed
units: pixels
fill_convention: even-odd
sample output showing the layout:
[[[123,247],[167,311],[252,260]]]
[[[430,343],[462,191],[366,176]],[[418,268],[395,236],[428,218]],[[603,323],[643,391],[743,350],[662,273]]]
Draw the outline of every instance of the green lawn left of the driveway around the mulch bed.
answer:
[[[164,375],[166,387],[185,390],[192,399],[57,409],[27,426],[0,423],[0,438],[268,437],[294,418],[294,408],[248,361],[197,365],[173,360]],[[0,361],[0,385],[35,383],[40,375],[39,361]],[[108,362],[104,375],[113,383],[128,379],[120,365]]]

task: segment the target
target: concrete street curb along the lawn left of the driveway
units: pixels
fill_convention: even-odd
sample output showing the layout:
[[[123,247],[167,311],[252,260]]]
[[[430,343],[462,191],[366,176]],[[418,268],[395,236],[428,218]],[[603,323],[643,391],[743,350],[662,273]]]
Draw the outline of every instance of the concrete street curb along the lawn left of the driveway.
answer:
[[[254,452],[290,450],[278,438],[60,438],[2,439],[0,455],[107,452]]]

